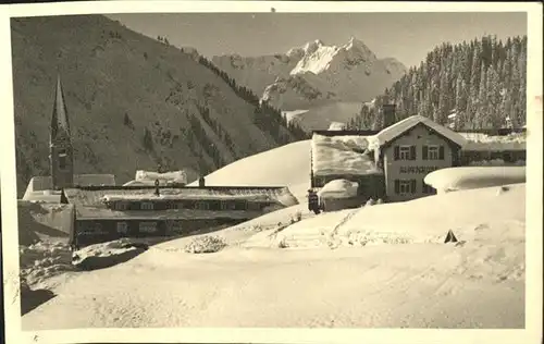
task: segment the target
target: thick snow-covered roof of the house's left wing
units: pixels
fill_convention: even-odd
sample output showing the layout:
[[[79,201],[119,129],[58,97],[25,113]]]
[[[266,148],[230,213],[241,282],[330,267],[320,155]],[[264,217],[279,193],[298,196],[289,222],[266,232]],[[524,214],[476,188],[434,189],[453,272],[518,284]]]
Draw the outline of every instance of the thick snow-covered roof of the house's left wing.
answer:
[[[382,173],[373,155],[364,153],[368,139],[360,135],[324,136],[314,134],[311,140],[313,175]]]

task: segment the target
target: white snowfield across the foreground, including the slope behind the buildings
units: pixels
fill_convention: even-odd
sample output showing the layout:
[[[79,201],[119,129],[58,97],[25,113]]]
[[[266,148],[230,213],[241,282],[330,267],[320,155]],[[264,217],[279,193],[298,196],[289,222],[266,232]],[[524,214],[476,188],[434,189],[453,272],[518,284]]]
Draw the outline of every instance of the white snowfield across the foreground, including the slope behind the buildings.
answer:
[[[207,182],[301,188],[308,151],[309,142],[288,145]],[[521,329],[524,199],[522,183],[318,216],[302,201],[110,268],[40,279],[55,297],[24,315],[23,329]],[[445,244],[450,230],[458,242]]]

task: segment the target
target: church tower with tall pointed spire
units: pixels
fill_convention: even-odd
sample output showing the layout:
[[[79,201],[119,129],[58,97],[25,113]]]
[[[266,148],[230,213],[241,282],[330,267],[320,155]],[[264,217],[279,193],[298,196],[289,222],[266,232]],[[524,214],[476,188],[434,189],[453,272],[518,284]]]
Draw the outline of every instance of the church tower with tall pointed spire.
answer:
[[[74,184],[74,155],[70,135],[70,122],[60,75],[57,75],[53,113],[49,136],[49,159],[53,189]]]

